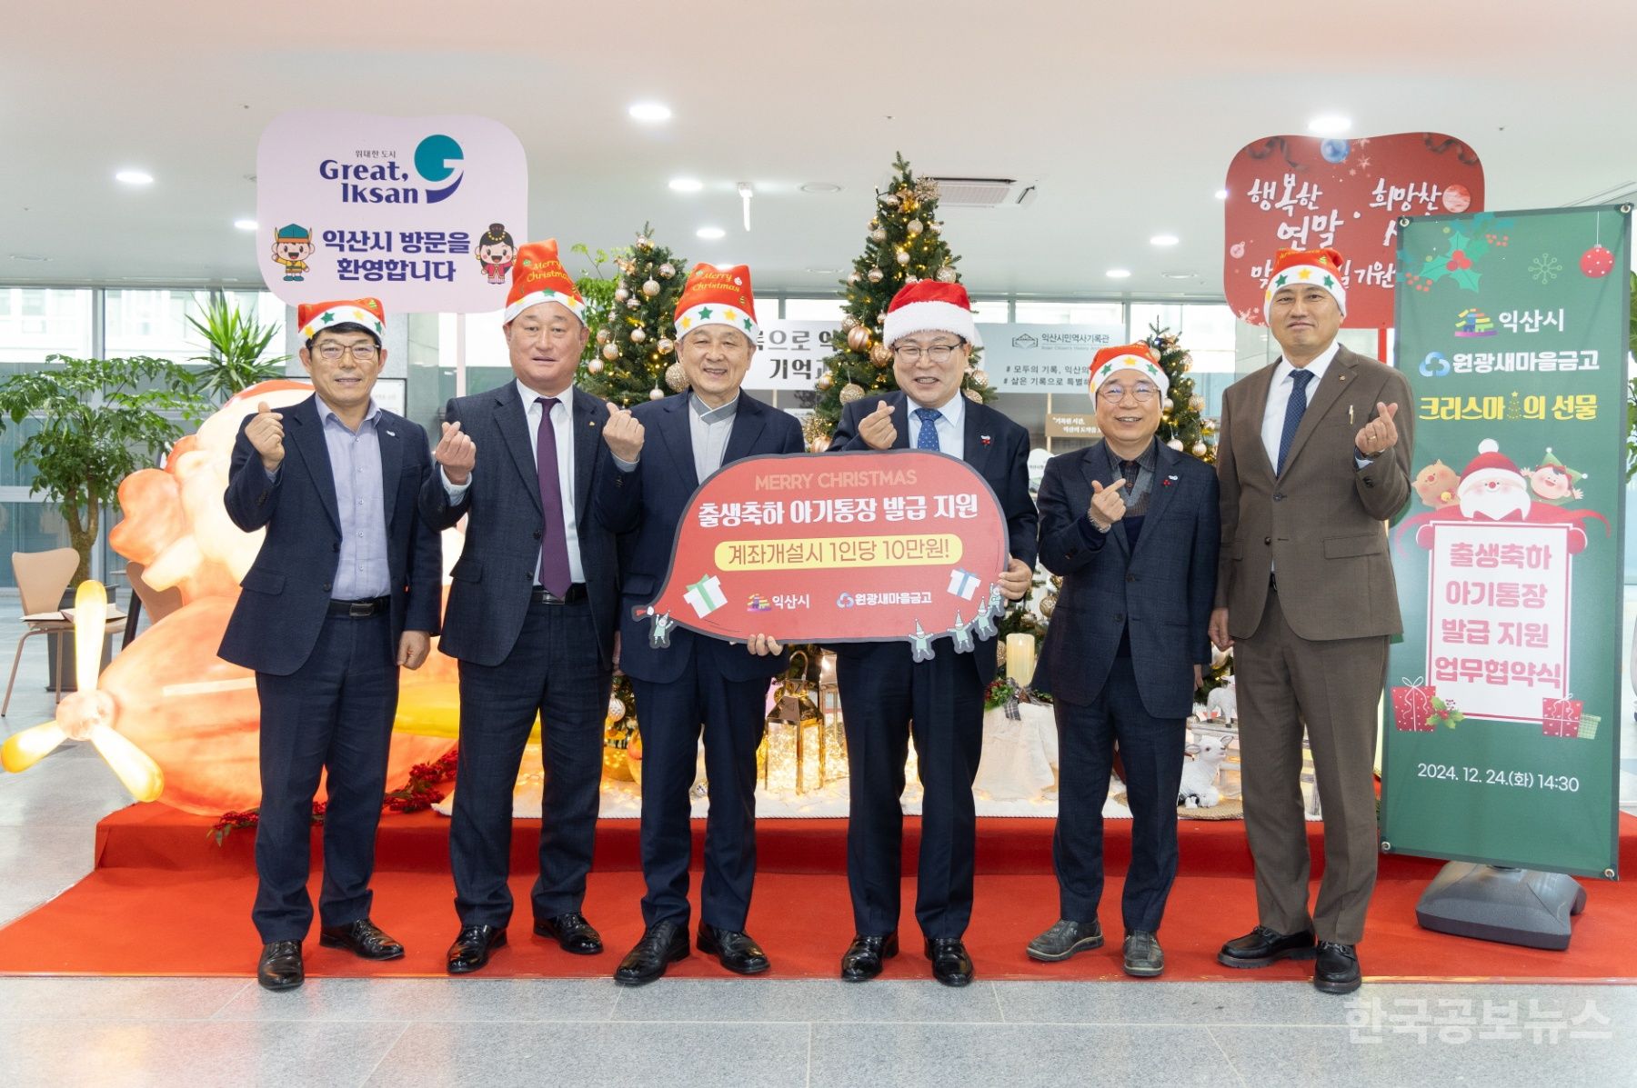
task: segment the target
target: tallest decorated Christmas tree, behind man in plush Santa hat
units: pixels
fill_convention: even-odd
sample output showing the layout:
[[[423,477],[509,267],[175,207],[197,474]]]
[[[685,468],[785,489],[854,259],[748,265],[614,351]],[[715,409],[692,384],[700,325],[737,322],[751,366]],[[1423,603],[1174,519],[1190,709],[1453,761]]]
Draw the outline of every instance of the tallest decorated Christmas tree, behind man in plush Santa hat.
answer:
[[[904,155],[894,160],[892,169],[895,177],[876,193],[876,214],[869,221],[864,252],[841,285],[846,294],[841,332],[833,344],[835,353],[825,360],[825,373],[818,376],[818,404],[809,422],[807,442],[815,450],[828,445],[846,404],[899,388],[892,376],[892,350],[881,342],[887,303],[899,288],[928,278],[945,283],[961,280],[954,268],[959,257],[949,252],[938,221],[938,183],[917,180]],[[963,389],[974,401],[987,401],[992,396],[987,386],[974,350]]]

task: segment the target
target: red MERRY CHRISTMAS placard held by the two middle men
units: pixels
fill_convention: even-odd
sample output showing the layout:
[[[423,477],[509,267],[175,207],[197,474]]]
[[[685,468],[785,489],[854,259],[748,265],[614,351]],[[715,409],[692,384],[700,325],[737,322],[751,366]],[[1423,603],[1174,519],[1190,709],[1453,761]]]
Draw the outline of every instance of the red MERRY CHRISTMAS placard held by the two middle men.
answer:
[[[674,625],[743,641],[909,641],[958,653],[1005,609],[1000,502],[966,461],[923,450],[733,461],[688,501],[648,641]]]

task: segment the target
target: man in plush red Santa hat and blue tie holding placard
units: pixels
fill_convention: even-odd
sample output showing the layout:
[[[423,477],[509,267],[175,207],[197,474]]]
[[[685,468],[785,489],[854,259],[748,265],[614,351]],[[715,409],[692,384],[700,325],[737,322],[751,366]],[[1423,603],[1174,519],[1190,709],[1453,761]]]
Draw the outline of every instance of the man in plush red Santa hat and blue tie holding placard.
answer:
[[[977,470],[1007,519],[1010,556],[992,574],[1008,600],[1021,599],[1036,550],[1028,432],[963,393],[971,348],[982,347],[966,288],[936,280],[905,285],[887,306],[881,342],[892,348],[900,391],[848,404],[830,448],[936,450]],[[940,641],[930,661],[915,661],[905,643],[837,646],[851,803],[846,879],[855,937],[841,955],[848,982],[874,978],[899,951],[899,795],[912,736],[925,787],[915,918],[933,977],[949,987],[972,980],[963,941],[972,915],[972,779],[984,740],[984,687],[994,676],[994,638],[979,638],[971,653]]]

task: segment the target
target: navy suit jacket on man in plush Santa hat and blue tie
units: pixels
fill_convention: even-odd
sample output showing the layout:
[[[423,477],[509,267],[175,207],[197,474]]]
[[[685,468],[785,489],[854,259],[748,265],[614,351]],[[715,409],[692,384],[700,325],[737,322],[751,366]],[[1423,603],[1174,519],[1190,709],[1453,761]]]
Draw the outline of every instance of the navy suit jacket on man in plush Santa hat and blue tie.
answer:
[[[892,442],[892,448],[910,448],[910,404],[909,396],[902,391],[887,393],[886,396],[866,396],[848,404],[841,411],[841,420],[835,425],[830,448],[846,452],[868,450],[869,443],[859,437],[858,424],[864,416],[876,411],[876,404],[882,399],[892,404],[892,425],[899,429],[899,437]],[[1035,538],[1039,515],[1035,512],[1035,502],[1028,497],[1028,432],[987,404],[967,401],[964,417],[963,443],[966,456],[963,460],[989,481],[995,497],[1000,499],[1000,512],[1007,519],[1007,551],[1013,560],[1023,560],[1033,569],[1035,553],[1039,546]],[[850,656],[861,656],[866,650],[869,650],[869,643],[840,643],[835,646],[838,654]],[[940,641],[936,653],[954,651],[948,641]],[[958,656],[969,656],[972,659],[977,666],[977,679],[984,684],[989,684],[995,677],[994,638],[979,638],[971,654]]]

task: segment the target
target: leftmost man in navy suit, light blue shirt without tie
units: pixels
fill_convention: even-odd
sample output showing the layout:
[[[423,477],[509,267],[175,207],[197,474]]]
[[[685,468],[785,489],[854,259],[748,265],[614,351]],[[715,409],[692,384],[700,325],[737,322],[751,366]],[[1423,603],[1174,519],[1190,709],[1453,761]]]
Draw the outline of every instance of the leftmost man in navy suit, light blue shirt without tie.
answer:
[[[329,772],[319,944],[363,959],[404,949],[370,921],[375,828],[398,710],[398,668],[417,669],[437,633],[442,550],[419,517],[426,432],[383,411],[386,319],[373,298],[296,308],[313,396],[260,404],[232,447],[224,506],[267,530],[216,651],[255,671],[262,805],[255,834],[257,982],[306,977],[313,924],[313,795]]]

